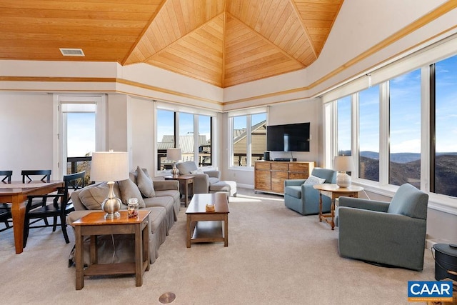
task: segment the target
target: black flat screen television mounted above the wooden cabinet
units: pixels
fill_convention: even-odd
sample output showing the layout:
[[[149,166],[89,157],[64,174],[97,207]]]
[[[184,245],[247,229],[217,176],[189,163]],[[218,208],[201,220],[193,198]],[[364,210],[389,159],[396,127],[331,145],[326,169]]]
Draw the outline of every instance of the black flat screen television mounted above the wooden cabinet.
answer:
[[[267,151],[309,151],[309,122],[266,126]]]

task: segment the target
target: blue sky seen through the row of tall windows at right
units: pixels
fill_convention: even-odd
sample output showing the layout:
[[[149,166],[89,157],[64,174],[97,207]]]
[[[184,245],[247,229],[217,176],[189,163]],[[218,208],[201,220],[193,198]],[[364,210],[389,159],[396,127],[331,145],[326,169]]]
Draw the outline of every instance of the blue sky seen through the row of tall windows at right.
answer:
[[[389,81],[390,151],[421,152],[421,70]],[[379,151],[379,86],[359,94],[361,151]],[[351,149],[351,98],[338,100],[338,150]],[[457,151],[457,56],[436,63],[436,151]]]

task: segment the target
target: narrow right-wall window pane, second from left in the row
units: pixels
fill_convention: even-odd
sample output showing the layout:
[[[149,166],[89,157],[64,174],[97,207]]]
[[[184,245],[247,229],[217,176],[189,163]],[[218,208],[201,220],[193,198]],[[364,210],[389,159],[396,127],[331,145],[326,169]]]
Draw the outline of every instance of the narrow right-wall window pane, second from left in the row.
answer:
[[[358,176],[379,181],[379,86],[358,93]]]

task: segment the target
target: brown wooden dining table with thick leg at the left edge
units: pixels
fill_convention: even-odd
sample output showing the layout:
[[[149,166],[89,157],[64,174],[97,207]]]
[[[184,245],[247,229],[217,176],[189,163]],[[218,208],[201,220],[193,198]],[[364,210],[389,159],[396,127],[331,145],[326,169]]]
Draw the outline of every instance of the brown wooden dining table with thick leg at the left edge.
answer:
[[[50,194],[63,186],[64,181],[61,180],[0,183],[0,204],[11,204],[16,254],[24,251],[24,219],[27,196]]]

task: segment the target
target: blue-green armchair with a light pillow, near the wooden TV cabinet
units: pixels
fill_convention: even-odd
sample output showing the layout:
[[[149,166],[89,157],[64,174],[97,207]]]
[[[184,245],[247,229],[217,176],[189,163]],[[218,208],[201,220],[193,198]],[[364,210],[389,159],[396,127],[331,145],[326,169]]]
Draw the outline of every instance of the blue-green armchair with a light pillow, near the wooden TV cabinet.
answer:
[[[315,167],[311,176],[325,179],[323,183],[334,184],[336,171],[333,169],[321,169]],[[310,176],[310,177],[311,177]],[[319,191],[313,188],[313,184],[307,184],[311,179],[287,179],[284,181],[284,204],[291,210],[302,215],[319,213]],[[322,196],[322,212],[329,212],[331,199]]]

